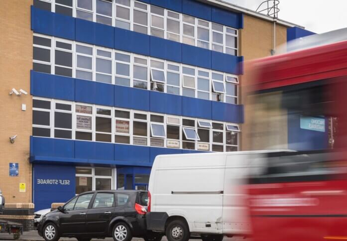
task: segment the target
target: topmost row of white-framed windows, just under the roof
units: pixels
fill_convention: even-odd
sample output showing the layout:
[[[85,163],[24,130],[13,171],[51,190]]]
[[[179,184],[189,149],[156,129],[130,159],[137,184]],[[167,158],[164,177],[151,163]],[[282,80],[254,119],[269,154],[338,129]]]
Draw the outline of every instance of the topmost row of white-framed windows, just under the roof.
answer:
[[[237,55],[237,30],[135,0],[34,0],[48,11]]]

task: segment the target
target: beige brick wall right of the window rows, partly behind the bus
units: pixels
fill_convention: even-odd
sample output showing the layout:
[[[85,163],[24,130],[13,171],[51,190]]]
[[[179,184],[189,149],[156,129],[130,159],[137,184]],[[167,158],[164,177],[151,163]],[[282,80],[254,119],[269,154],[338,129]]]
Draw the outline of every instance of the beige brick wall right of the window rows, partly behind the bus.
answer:
[[[249,15],[244,15],[243,29],[240,30],[239,37],[239,55],[244,56],[245,64],[249,60],[262,58],[271,55],[271,49],[274,48],[274,42],[276,43],[276,49],[279,46],[285,46],[287,42],[287,27],[276,23],[276,41],[274,41],[274,23],[265,21]],[[247,69],[245,69],[245,72]],[[251,81],[252,73],[245,73],[240,77],[241,91],[240,100],[244,105],[244,124],[241,125],[241,150],[254,149],[250,145],[250,128],[252,127],[251,118],[254,117],[250,105],[247,105],[246,89],[243,88],[248,81]],[[249,80],[248,80],[248,79]],[[286,123],[283,123],[286,125]],[[283,127],[284,127],[283,125]],[[271,128],[271,126],[269,126]],[[285,128],[283,128],[285,129]],[[285,138],[285,136],[284,136]],[[258,146],[259,147],[259,146]]]

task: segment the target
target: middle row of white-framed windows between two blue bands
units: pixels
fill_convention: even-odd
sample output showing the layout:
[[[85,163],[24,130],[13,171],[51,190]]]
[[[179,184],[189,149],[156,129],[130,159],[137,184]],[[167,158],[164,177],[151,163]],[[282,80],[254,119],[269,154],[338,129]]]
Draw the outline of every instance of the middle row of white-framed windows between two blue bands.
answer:
[[[237,104],[237,76],[41,34],[33,70]]]

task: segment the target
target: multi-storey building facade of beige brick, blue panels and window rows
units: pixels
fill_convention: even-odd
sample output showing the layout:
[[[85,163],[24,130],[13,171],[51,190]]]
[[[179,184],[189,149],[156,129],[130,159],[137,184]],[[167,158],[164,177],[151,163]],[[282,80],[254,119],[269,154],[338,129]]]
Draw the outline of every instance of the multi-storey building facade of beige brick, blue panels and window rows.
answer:
[[[242,62],[294,26],[217,0],[8,0],[0,17],[0,189],[36,210],[146,190],[159,154],[241,150]]]

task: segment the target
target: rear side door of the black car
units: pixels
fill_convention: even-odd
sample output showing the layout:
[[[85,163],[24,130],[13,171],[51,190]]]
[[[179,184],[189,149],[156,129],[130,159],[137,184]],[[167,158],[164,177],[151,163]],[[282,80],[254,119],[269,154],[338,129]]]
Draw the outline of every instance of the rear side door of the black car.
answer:
[[[98,192],[92,208],[87,214],[87,232],[106,234],[115,212],[115,194],[113,192]]]

